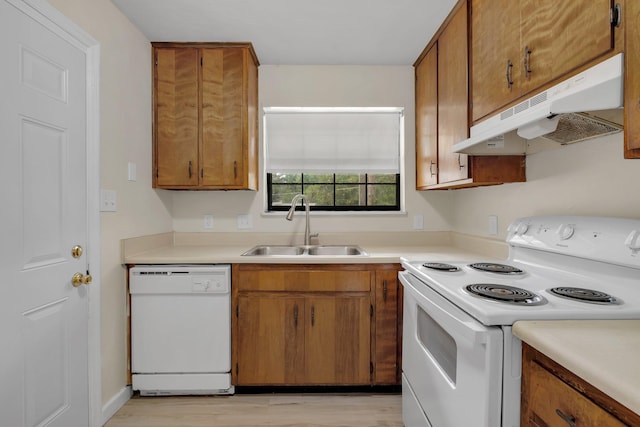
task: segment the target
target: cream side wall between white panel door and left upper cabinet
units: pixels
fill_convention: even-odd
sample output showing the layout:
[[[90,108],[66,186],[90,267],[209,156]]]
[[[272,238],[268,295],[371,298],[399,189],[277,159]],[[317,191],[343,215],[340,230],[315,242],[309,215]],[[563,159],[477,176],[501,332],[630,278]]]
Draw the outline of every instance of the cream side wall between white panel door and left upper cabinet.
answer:
[[[151,46],[109,0],[50,3],[100,43],[101,187],[118,211],[101,215],[102,398],[126,386],[126,286],[120,239],[171,231],[171,197],[151,188]],[[127,163],[137,181],[127,181]]]

